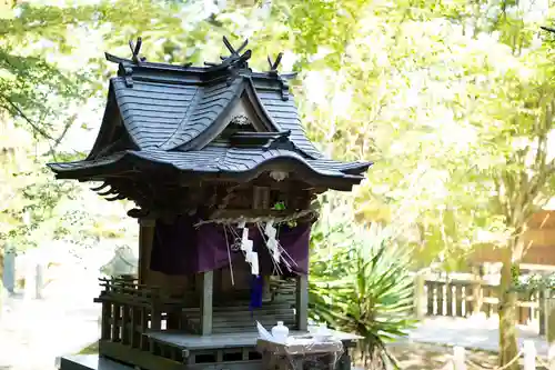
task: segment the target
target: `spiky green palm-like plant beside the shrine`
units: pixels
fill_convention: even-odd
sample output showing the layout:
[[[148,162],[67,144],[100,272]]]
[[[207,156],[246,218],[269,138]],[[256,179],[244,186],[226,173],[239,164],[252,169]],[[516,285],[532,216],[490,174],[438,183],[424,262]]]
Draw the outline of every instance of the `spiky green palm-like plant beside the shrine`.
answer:
[[[408,254],[387,229],[341,223],[332,231],[333,241],[323,236],[327,228],[314,230],[312,318],[363,337],[357,349],[365,366],[395,364],[385,343],[405,336],[415,322]]]

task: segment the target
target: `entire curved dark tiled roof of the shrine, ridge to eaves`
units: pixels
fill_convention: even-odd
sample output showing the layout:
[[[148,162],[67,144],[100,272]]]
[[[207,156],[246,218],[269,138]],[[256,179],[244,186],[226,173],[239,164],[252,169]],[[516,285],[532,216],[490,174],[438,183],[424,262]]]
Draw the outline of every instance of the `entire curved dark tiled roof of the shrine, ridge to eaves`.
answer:
[[[50,168],[65,178],[90,179],[115,168],[129,169],[130,160],[199,173],[256,172],[261,166],[283,160],[321,179],[340,178],[345,183],[362,180],[371,163],[324,159],[307,139],[285,77],[276,72],[276,66],[270,72],[253,72],[246,63],[250,51],[242,56],[232,48],[230,51],[232,56],[222,63],[204,68],[108,56],[119,63],[119,76],[110,80],[94,148],[83,161],[51,163]],[[211,144],[229,123],[224,118],[230,118],[240,99],[245,99],[242,107],[249,110],[249,117],[256,119],[256,124],[252,122],[256,130],[286,137],[275,139],[280,142],[270,147]]]

